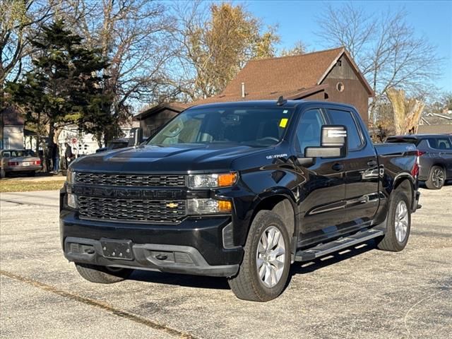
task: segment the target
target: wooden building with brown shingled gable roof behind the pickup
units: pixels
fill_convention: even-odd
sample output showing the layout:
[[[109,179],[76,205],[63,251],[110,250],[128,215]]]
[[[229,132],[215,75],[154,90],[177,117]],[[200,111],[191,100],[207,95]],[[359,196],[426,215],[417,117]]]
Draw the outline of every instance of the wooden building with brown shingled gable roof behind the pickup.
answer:
[[[374,91],[347,50],[339,47],[290,57],[251,60],[219,95],[188,104],[157,105],[134,119],[141,121],[144,128],[150,117],[162,112],[174,117],[182,109],[194,105],[277,100],[281,95],[288,100],[325,100],[353,105],[368,124],[369,98],[374,96]],[[153,128],[157,128],[157,119],[152,121]]]

